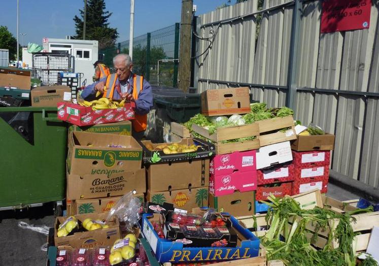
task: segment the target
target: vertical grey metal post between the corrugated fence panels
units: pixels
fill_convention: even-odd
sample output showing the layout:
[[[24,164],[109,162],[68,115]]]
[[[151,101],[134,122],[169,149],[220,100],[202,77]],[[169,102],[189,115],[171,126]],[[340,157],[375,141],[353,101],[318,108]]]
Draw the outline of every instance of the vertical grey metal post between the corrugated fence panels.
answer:
[[[286,106],[295,110],[296,107],[296,89],[297,89],[297,47],[299,43],[299,32],[300,32],[300,19],[301,11],[303,8],[302,0],[296,0],[295,8],[292,14],[292,27],[291,27],[291,43],[290,43],[290,54],[289,54],[289,71],[287,78],[287,98]]]

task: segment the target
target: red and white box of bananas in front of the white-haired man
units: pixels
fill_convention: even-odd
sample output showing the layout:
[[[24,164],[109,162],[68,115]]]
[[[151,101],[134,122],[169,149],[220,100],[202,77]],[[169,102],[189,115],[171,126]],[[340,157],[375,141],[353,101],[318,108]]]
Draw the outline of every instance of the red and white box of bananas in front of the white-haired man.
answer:
[[[124,107],[117,109],[92,110],[91,107],[81,106],[70,102],[57,104],[58,118],[74,125],[96,125],[120,122],[134,119],[135,104],[125,103]]]

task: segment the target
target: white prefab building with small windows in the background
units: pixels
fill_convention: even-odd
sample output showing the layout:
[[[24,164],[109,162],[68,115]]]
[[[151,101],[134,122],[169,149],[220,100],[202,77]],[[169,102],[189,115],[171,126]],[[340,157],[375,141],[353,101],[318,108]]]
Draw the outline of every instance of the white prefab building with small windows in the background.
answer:
[[[98,59],[98,42],[90,40],[43,39],[42,52],[67,53],[71,55],[71,67],[74,73],[83,73],[81,83],[92,83],[95,73],[94,62]]]

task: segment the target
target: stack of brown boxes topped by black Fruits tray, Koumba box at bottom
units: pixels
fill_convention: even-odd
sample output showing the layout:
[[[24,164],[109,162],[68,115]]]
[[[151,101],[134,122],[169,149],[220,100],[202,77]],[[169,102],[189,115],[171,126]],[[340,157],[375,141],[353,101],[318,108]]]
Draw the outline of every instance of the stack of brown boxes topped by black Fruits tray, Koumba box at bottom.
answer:
[[[162,144],[142,141],[144,163],[147,172],[148,202],[174,204],[177,209],[191,211],[197,207],[208,207],[209,157],[214,147],[191,138],[179,144],[201,146],[196,152],[165,155],[162,151],[150,151]]]

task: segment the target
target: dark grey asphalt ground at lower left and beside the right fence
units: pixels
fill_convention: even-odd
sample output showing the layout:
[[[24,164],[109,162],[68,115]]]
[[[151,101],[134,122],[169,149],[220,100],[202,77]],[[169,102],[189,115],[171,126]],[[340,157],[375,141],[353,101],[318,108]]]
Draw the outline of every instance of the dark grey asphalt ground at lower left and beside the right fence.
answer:
[[[335,184],[329,184],[327,195],[340,201],[359,198]],[[47,252],[42,251],[41,246],[47,242],[47,237],[18,227],[19,221],[53,226],[52,207],[36,207],[23,212],[0,211],[0,265],[46,265]]]

